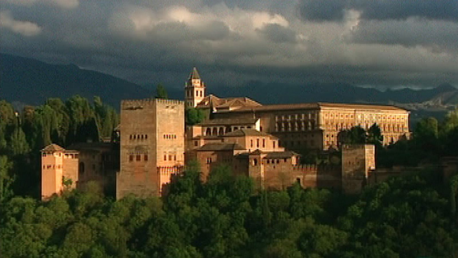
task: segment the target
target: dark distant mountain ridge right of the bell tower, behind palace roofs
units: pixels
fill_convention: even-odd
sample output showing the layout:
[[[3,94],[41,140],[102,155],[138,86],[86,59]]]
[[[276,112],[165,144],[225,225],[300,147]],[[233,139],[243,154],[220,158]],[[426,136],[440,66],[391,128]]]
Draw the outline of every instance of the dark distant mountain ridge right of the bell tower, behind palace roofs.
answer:
[[[287,90],[284,90],[287,89]],[[347,83],[310,83],[306,85],[249,82],[244,87],[212,88],[208,93],[221,97],[247,96],[264,104],[339,102],[339,103],[421,103],[444,93],[458,93],[450,84],[424,90],[403,88],[380,91]],[[444,103],[445,104],[445,103]]]

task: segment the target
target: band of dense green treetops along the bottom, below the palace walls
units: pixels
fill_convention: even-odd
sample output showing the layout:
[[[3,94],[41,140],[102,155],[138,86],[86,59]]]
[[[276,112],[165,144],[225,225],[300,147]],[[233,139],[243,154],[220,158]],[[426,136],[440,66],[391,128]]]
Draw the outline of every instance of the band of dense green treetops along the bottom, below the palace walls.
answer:
[[[191,167],[169,195],[120,201],[94,185],[49,202],[4,203],[2,257],[458,257],[457,182],[436,171],[345,197],[326,189],[255,192],[219,167]],[[454,187],[454,188],[453,188]],[[453,201],[453,202],[452,202]]]

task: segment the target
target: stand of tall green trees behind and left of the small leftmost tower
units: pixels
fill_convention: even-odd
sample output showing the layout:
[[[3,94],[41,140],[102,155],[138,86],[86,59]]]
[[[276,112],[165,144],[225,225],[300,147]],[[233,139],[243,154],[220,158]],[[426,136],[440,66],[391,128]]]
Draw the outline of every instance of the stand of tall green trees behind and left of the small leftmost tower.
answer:
[[[39,150],[46,145],[98,142],[111,137],[118,124],[119,115],[99,97],[93,104],[78,95],[65,102],[48,99],[22,112],[0,100],[0,199],[12,191],[39,196]]]

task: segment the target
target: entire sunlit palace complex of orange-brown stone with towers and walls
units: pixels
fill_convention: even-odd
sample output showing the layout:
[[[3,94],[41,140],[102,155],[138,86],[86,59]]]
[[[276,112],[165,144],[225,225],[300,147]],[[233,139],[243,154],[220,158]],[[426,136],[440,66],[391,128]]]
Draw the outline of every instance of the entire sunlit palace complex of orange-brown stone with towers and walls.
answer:
[[[185,109],[203,110],[199,124],[185,125]],[[197,160],[201,177],[229,165],[235,174],[253,178],[256,187],[342,188],[359,192],[375,170],[371,144],[344,145],[341,131],[377,124],[383,143],[409,137],[409,111],[371,104],[269,104],[247,97],[219,98],[206,94],[194,68],[185,83],[185,101],[123,100],[119,139],[82,143],[65,150],[55,144],[42,150],[42,197],[87,181],[115,186],[116,198],[127,194],[161,195],[186,162]],[[300,150],[341,150],[334,165],[303,164]],[[77,173],[75,172],[77,171]]]

